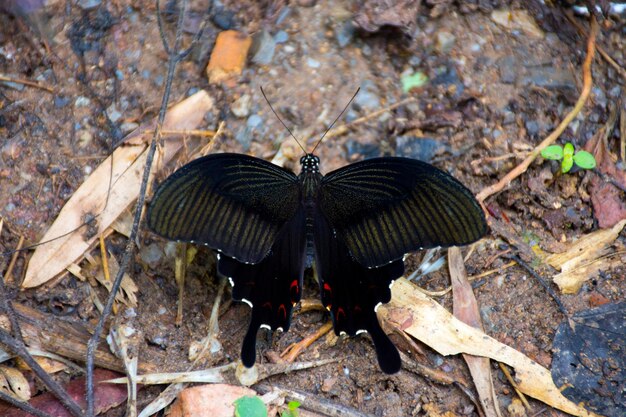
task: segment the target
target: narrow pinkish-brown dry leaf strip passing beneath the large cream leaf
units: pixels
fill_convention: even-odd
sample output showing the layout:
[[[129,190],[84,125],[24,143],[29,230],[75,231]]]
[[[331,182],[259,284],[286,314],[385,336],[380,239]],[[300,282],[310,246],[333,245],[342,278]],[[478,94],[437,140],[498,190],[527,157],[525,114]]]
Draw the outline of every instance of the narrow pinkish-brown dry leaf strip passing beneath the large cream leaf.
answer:
[[[450,279],[452,281],[454,316],[464,323],[484,331],[478,303],[474,297],[472,286],[467,280],[467,271],[459,248],[451,247],[448,249],[448,265],[450,266]],[[487,417],[501,417],[502,414],[491,378],[489,358],[464,354],[463,359],[465,359],[474,380],[474,386],[485,415]]]

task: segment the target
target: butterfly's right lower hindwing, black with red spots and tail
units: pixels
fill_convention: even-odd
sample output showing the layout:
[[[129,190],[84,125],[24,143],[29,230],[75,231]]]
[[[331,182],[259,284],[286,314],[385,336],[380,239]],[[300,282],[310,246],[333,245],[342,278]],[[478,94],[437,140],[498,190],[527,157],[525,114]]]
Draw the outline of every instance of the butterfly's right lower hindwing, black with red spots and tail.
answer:
[[[322,303],[331,313],[335,333],[354,336],[368,332],[380,368],[389,374],[398,372],[400,354],[380,327],[376,307],[391,300],[389,286],[403,274],[404,262],[400,259],[371,269],[357,263],[319,209],[315,216],[314,242]]]

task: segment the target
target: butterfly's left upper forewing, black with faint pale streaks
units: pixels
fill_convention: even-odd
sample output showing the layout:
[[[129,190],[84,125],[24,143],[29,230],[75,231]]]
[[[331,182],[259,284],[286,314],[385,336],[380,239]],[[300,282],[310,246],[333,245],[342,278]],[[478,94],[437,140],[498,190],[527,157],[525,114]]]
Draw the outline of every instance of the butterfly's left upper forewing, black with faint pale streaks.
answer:
[[[148,227],[254,264],[267,255],[299,204],[292,172],[247,155],[212,154],[161,184],[148,210]]]

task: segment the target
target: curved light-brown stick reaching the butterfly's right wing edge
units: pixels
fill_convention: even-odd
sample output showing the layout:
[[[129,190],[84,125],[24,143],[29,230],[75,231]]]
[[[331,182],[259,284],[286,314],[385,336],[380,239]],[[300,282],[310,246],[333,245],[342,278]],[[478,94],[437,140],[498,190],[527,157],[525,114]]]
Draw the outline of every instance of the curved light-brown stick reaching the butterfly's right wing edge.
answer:
[[[535,149],[532,150],[530,155],[522,161],[521,164],[516,166],[511,172],[505,175],[500,181],[497,183],[490,185],[489,187],[484,188],[476,195],[476,199],[481,203],[489,196],[502,191],[505,187],[507,187],[511,181],[515,178],[522,175],[530,164],[537,158],[537,156],[541,153],[543,149],[551,145],[560,135],[563,133],[567,125],[574,120],[576,115],[580,113],[587,98],[589,98],[589,93],[591,92],[592,86],[592,78],[591,78],[591,63],[593,61],[593,56],[595,54],[595,46],[596,46],[596,35],[598,34],[598,23],[596,22],[595,17],[591,17],[591,32],[589,34],[589,39],[587,40],[587,56],[585,57],[585,61],[583,62],[583,88],[580,93],[580,97],[578,97],[578,101],[576,105],[570,111],[567,116],[563,119],[563,121],[557,126],[557,128],[541,142]]]

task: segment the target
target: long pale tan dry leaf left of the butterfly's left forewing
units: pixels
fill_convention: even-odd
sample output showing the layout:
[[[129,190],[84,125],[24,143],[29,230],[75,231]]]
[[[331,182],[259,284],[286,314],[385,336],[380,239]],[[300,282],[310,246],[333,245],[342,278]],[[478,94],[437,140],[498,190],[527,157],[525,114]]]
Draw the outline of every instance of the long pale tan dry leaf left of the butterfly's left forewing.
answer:
[[[168,110],[163,130],[195,129],[211,107],[213,100],[206,91],[201,90]],[[153,121],[142,125],[130,138],[142,136],[144,132],[154,129],[154,124]],[[166,164],[183,146],[182,136],[164,135],[164,139],[160,158],[155,158],[151,175],[154,175],[157,166]],[[126,144],[130,142],[127,140]],[[65,204],[41,239],[41,242],[47,243],[38,246],[30,259],[22,283],[24,288],[48,282],[76,262],[98,236],[105,233],[111,223],[137,199],[146,162],[147,144],[143,140],[135,142],[133,146],[118,147]],[[97,214],[97,232],[85,236],[85,228],[81,227],[85,217]]]

